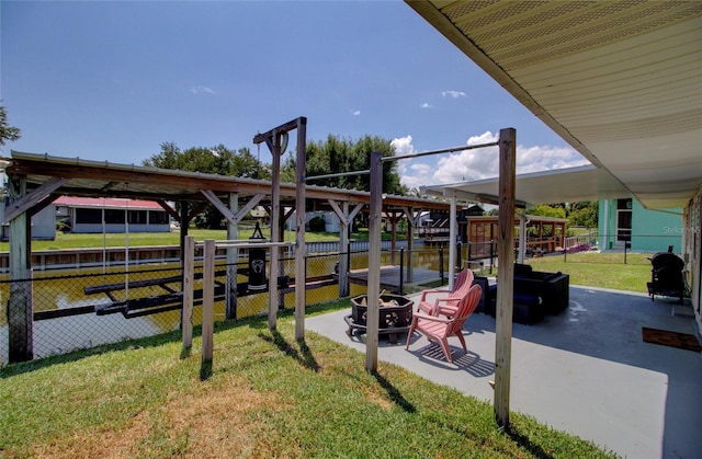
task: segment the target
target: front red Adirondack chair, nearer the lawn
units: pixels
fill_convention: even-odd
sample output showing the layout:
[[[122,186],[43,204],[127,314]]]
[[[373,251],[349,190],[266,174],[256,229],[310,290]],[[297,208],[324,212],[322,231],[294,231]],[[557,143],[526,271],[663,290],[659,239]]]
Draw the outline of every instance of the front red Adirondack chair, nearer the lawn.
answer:
[[[451,358],[451,349],[449,348],[449,337],[458,336],[461,345],[464,352],[468,352],[465,345],[465,338],[463,337],[463,323],[471,317],[475,308],[480,301],[480,295],[483,288],[479,285],[471,287],[468,292],[458,300],[458,305],[455,311],[455,315],[450,318],[437,317],[426,314],[423,312],[417,312],[412,317],[412,324],[407,334],[407,344],[405,349],[409,348],[409,342],[412,338],[414,332],[419,332],[427,336],[429,341],[435,341],[441,345],[446,360],[453,363]]]

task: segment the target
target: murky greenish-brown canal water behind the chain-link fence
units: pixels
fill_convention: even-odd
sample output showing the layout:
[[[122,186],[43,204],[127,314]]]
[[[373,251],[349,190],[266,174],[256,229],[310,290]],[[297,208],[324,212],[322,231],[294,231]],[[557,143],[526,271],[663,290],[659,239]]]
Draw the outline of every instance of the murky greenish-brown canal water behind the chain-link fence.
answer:
[[[327,276],[332,274],[339,261],[339,254],[309,254],[306,259],[306,276],[308,278]],[[348,255],[343,255],[348,256]],[[387,251],[382,253],[381,264],[399,265],[400,252],[393,254]],[[407,266],[408,254],[403,252],[403,264]],[[428,250],[417,250],[412,253],[411,262],[415,267],[439,271],[439,250],[431,248]],[[444,260],[444,268],[445,268]],[[351,253],[350,269],[367,268],[367,252]],[[225,271],[224,262],[218,262],[217,271]],[[267,262],[267,269],[270,269]],[[284,255],[281,261],[281,276],[294,277],[295,260],[292,254]],[[196,264],[195,272],[202,272],[202,266]],[[54,311],[61,309],[75,309],[81,307],[94,307],[95,309],[109,308],[117,301],[126,299],[158,298],[168,295],[169,291],[180,291],[180,282],[173,277],[180,276],[180,267],[177,263],[159,263],[152,265],[129,266],[116,268],[91,268],[91,269],[60,269],[41,272],[34,274],[32,283],[32,296],[34,312]],[[143,287],[128,287],[125,284],[134,285],[136,282],[161,278],[160,285],[148,285]],[[0,283],[0,303],[7,305],[10,292],[10,284],[4,280]],[[238,283],[246,283],[247,276],[239,275]],[[216,283],[225,283],[225,277],[219,276]],[[147,284],[150,280],[147,280]],[[118,286],[109,292],[98,291],[87,294],[91,288],[100,290],[103,286]],[[195,280],[195,289],[202,289],[202,278]],[[350,295],[358,296],[366,292],[365,286],[350,285]],[[337,284],[321,288],[308,289],[306,292],[307,305],[314,305],[339,298],[339,286]],[[280,305],[284,308],[295,307],[295,294],[281,295]],[[244,296],[237,298],[237,318],[245,318],[268,313],[268,292]],[[215,302],[215,320],[225,320],[224,301]],[[193,324],[202,322],[201,308],[195,307],[193,311]],[[76,315],[35,320],[33,324],[33,346],[35,358],[42,358],[55,354],[64,354],[78,348],[90,348],[100,344],[115,343],[129,338],[151,336],[173,330],[180,326],[180,310],[152,313],[143,317],[125,318],[122,313],[110,313],[98,315],[94,312]],[[343,324],[340,324],[343,326]],[[9,342],[8,342],[8,320],[7,309],[0,311],[0,366],[7,365]]]

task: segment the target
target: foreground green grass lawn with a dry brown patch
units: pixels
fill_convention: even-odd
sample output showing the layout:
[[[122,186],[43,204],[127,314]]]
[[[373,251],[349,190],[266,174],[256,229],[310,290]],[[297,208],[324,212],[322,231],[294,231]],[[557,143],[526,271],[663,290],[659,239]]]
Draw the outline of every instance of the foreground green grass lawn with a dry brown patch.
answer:
[[[313,307],[309,314],[348,307]],[[613,457],[531,417],[498,428],[491,403],[313,332],[291,312],[217,323],[201,379],[200,338],[179,333],[0,369],[2,457]]]

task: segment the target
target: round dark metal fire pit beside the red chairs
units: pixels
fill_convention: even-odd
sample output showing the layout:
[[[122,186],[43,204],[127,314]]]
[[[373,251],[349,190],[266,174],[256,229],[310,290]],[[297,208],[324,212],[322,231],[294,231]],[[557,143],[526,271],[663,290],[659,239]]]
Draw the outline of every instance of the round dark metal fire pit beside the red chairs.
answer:
[[[378,334],[387,334],[392,344],[397,344],[397,334],[409,330],[415,302],[399,295],[381,295],[378,300]],[[349,325],[347,334],[366,330],[367,296],[351,298],[351,314],[343,318]]]

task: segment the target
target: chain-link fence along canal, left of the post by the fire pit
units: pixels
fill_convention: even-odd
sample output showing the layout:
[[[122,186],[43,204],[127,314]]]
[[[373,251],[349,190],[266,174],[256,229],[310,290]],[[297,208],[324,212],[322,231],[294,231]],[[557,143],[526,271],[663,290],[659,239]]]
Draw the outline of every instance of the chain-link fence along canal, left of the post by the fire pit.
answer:
[[[239,260],[246,260],[245,257]],[[291,255],[291,254],[288,254]],[[339,277],[335,269],[341,256],[348,257],[351,269],[367,267],[367,252],[359,251],[308,254],[305,257],[306,305],[339,298]],[[279,261],[279,309],[295,307],[295,259],[283,256]],[[227,272],[236,273],[237,294],[233,313],[227,318]],[[267,273],[270,259],[267,260]],[[60,273],[60,274],[59,274]],[[0,366],[11,358],[11,348],[26,347],[31,343],[34,358],[91,348],[152,336],[181,328],[182,268],[180,263],[159,263],[138,266],[103,266],[53,269],[33,273],[32,278],[0,278]],[[267,275],[268,279],[268,275]],[[202,257],[195,261],[193,324],[202,323]],[[250,290],[248,261],[227,264],[219,255],[215,265],[215,321],[242,319],[267,314],[269,292]],[[25,291],[22,297],[32,305],[33,321],[29,331],[11,332],[10,314],[24,314],[24,299],[12,312],[11,291]],[[365,286],[352,284],[349,296],[365,292]],[[16,298],[18,295],[15,294]],[[14,330],[14,329],[13,329]],[[15,340],[15,343],[11,343]],[[18,344],[16,340],[22,343]]]

